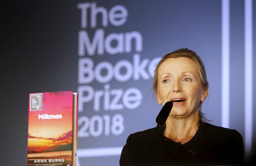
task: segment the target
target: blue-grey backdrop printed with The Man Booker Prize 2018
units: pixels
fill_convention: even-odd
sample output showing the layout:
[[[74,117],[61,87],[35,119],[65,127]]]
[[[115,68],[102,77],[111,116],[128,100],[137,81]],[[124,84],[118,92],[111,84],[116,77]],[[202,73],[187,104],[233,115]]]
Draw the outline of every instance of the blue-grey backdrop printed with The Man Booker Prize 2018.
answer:
[[[1,165],[26,165],[29,93],[67,90],[79,93],[77,165],[119,165],[127,137],[156,126],[154,69],[179,48],[205,64],[209,123],[236,129],[250,155],[256,3],[246,3],[9,1],[1,23]]]

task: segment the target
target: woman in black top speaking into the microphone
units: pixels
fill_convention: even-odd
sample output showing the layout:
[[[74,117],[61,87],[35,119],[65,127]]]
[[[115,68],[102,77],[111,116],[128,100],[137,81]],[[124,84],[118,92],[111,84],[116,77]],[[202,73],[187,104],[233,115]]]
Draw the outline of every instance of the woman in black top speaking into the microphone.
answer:
[[[163,57],[153,88],[159,104],[173,103],[164,126],[131,134],[120,165],[242,165],[242,136],[205,123],[208,82],[200,57],[183,48]]]

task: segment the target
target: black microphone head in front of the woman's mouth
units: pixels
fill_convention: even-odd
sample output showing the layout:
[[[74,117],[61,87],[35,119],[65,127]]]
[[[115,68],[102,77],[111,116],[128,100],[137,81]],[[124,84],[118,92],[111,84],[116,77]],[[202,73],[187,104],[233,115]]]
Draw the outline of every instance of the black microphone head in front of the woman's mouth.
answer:
[[[158,125],[164,125],[172,109],[172,102],[167,101],[159,112],[156,122]]]

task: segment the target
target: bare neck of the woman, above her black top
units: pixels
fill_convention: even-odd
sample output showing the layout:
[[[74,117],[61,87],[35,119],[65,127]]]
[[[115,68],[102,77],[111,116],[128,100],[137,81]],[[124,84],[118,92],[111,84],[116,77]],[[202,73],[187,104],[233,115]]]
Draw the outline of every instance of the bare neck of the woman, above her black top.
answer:
[[[164,136],[184,144],[191,140],[199,128],[199,116],[194,115],[186,119],[177,119],[168,117],[166,120],[166,128]]]

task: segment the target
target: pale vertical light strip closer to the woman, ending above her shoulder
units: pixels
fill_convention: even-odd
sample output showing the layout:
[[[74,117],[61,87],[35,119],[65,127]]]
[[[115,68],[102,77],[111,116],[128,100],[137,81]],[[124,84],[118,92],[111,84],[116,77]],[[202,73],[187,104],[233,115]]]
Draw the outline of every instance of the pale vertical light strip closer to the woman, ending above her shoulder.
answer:
[[[221,126],[229,127],[230,103],[230,11],[229,0],[222,0],[221,8],[221,54],[222,54],[222,82],[221,82]]]

